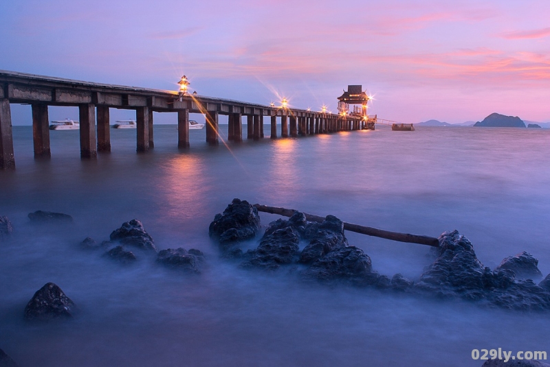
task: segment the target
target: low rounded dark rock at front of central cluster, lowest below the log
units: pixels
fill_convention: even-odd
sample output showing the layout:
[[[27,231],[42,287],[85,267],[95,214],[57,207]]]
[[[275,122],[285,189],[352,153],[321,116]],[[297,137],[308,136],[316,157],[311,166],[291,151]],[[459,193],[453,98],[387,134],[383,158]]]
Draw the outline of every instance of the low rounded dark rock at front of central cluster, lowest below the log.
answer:
[[[363,285],[373,276],[371,258],[355,246],[337,248],[320,257],[303,272],[308,279],[318,281],[348,281]]]

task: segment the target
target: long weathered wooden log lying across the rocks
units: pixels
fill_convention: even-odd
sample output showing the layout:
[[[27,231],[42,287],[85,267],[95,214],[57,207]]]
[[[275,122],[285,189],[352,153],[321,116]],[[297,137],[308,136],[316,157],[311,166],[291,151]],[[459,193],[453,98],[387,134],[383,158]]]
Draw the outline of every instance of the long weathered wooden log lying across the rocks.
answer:
[[[254,204],[254,206],[256,207],[256,209],[258,209],[258,211],[263,211],[264,213],[283,215],[284,217],[292,217],[292,215],[295,212],[294,209],[277,208],[275,206],[267,206],[267,205],[260,205],[260,204]],[[309,222],[321,223],[322,221],[325,220],[325,217],[320,217],[319,215],[308,214],[308,213],[304,213],[304,215],[306,220],[308,220]],[[409,233],[391,232],[390,230],[360,226],[359,224],[353,224],[348,222],[343,222],[343,223],[344,223],[345,230],[349,230],[355,233],[361,233],[362,235],[369,235],[373,237],[391,239],[392,241],[408,242],[411,244],[421,244],[421,245],[439,247],[439,240],[435,237],[422,236],[422,235],[410,235]]]

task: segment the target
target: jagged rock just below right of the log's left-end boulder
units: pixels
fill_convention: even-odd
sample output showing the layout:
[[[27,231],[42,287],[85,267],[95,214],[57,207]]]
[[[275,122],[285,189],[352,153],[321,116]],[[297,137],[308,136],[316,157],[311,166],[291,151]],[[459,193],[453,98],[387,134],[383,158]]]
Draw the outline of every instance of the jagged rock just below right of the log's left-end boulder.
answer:
[[[251,266],[275,270],[281,264],[292,263],[298,253],[300,237],[293,226],[275,230],[261,240],[260,245],[248,256],[250,259],[241,267]]]

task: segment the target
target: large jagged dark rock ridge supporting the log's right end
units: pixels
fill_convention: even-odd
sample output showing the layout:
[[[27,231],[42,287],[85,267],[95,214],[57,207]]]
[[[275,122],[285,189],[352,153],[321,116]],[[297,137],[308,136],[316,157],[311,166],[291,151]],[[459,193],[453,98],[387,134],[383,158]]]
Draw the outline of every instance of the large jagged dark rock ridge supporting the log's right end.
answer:
[[[550,310],[550,292],[531,280],[516,280],[510,269],[485,268],[470,241],[456,230],[439,237],[436,251],[437,259],[413,287],[417,292],[483,300],[507,309]]]

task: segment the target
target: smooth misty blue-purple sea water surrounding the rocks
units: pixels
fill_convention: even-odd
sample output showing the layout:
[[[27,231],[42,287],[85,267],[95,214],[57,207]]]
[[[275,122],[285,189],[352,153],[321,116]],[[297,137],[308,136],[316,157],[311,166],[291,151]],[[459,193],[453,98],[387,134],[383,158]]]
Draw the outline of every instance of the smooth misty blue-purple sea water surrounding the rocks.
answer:
[[[135,130],[111,130],[113,152],[80,161],[78,131],[57,131],[51,160],[34,161],[30,126],[14,127],[17,171],[0,172],[0,215],[15,228],[0,244],[0,348],[21,366],[481,366],[473,348],[549,351],[549,315],[240,270],[219,259],[208,224],[241,198],[436,237],[456,228],[485,265],[527,250],[548,274],[550,130],[382,127],[230,150],[202,130],[188,152],[176,133],[155,126],[155,149],[136,154]],[[39,209],[75,223],[32,226]],[[208,266],[124,267],[78,247],[133,218],[159,249],[199,248]],[[261,213],[264,226],[276,218]],[[415,279],[430,261],[426,246],[347,237],[382,274]],[[76,317],[25,322],[48,281]]]

